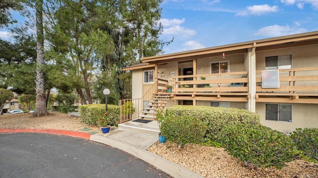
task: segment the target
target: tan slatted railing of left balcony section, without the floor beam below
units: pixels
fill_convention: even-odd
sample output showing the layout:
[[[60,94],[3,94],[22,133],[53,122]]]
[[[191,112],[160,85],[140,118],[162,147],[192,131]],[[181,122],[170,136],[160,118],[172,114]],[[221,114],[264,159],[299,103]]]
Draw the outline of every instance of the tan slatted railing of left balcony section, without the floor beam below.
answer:
[[[229,72],[172,77],[175,93],[248,93],[248,72]]]

